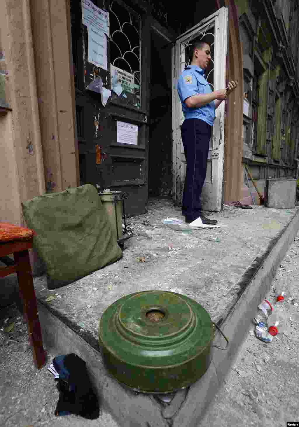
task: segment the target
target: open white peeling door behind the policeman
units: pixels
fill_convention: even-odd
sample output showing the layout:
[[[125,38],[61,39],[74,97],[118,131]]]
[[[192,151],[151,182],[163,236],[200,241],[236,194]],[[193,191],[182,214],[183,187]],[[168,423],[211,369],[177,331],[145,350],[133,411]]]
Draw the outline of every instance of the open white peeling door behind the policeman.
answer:
[[[221,19],[223,26],[218,25],[218,20]],[[224,88],[226,86],[226,54],[228,52],[228,9],[222,7],[212,15],[203,18],[191,29],[185,31],[182,35],[176,38],[176,44],[173,47],[172,55],[172,79],[173,79],[173,197],[177,205],[182,203],[183,185],[185,182],[185,167],[182,162],[182,154],[184,153],[181,137],[182,124],[182,105],[179,100],[176,84],[179,75],[181,74],[181,58],[180,44],[188,36],[192,35],[202,26],[210,21],[215,22],[215,44],[214,44],[214,60],[217,58],[217,66],[214,65],[214,85],[215,89]],[[225,25],[226,23],[226,25]],[[220,48],[220,42],[226,49]],[[214,61],[216,64],[216,60]],[[211,181],[206,182],[202,191],[202,208],[209,211],[221,211],[223,208],[223,165],[224,165],[224,119],[225,119],[225,103],[222,102],[215,111],[215,121],[213,126],[213,136],[210,142],[208,161],[211,162]]]

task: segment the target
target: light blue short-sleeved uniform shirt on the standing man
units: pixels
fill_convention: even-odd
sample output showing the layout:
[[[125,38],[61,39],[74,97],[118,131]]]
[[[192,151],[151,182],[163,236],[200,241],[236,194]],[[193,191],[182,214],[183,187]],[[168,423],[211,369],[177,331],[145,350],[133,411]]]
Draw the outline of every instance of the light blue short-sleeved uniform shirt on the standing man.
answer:
[[[212,126],[215,119],[214,101],[198,108],[188,108],[184,104],[188,97],[211,93],[210,85],[205,79],[203,70],[197,65],[189,65],[179,76],[177,89],[185,119],[200,119]]]

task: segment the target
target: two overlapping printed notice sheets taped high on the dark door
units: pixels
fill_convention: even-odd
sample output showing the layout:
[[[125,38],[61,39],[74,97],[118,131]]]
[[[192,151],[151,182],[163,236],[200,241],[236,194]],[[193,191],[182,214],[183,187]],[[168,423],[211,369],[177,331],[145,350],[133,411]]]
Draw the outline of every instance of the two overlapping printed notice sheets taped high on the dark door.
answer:
[[[88,62],[107,70],[107,39],[109,14],[89,0],[81,0],[82,23],[88,31]]]

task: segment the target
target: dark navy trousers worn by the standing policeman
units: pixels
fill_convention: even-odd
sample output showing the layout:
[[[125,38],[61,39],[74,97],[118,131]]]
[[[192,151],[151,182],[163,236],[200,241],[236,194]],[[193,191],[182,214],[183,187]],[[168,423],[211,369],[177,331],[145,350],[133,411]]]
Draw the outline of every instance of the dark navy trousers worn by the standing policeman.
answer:
[[[200,195],[207,172],[212,127],[200,119],[185,119],[181,127],[187,162],[182,215],[196,219],[202,209]]]

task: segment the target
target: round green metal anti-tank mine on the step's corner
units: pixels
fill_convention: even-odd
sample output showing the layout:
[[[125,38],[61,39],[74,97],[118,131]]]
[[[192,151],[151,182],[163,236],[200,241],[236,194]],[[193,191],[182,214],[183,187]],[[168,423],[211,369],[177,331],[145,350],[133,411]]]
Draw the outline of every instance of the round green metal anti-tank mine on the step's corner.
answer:
[[[185,295],[126,295],[103,313],[99,342],[118,381],[146,393],[169,393],[198,380],[211,363],[215,329],[207,311]]]

